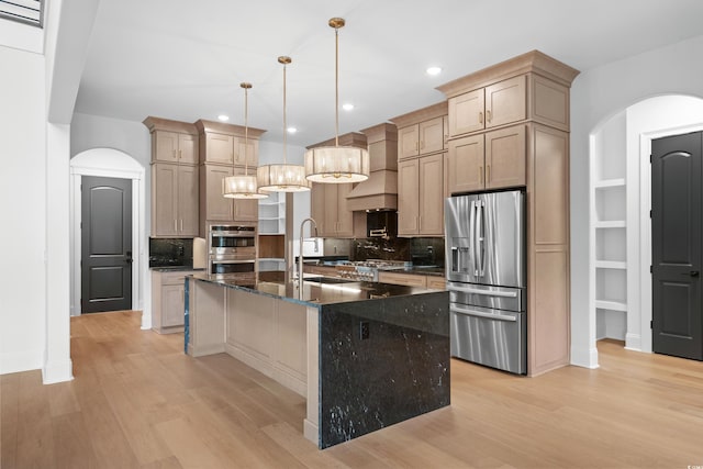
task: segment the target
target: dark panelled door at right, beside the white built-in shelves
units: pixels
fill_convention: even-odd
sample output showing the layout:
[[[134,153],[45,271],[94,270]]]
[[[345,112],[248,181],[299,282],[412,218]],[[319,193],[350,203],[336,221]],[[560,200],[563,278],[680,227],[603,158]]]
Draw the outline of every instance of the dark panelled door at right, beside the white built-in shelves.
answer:
[[[652,349],[703,360],[702,134],[651,143]]]

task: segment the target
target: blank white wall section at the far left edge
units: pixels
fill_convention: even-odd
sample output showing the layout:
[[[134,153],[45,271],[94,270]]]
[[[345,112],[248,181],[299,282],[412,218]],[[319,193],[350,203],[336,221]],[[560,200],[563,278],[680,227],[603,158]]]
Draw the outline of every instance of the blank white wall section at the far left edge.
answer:
[[[0,45],[0,373],[8,373],[41,368],[44,356],[46,101],[42,55]]]

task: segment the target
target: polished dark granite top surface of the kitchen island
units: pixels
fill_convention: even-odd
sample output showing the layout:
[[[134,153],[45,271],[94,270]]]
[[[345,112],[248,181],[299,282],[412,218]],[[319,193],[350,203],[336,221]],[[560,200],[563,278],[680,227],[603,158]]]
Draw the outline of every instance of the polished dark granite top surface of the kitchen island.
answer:
[[[314,308],[319,308],[324,304],[347,303],[353,301],[406,297],[411,294],[434,292],[434,290],[417,287],[306,276],[303,281],[303,294],[301,298],[299,295],[298,281],[286,282],[280,279],[264,280],[259,278],[255,283],[247,283],[241,280],[211,279],[204,272],[196,273],[192,278]]]

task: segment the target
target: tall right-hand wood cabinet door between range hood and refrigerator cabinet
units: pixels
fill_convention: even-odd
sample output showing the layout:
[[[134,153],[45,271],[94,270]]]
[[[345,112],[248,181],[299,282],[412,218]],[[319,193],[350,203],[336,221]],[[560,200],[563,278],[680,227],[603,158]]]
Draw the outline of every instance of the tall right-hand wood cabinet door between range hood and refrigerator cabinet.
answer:
[[[444,233],[444,155],[420,158],[419,234]]]

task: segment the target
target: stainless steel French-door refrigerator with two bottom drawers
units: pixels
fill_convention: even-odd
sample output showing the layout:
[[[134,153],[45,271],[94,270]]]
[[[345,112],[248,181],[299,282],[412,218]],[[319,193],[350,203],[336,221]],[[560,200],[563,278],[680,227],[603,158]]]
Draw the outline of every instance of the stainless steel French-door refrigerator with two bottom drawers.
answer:
[[[525,375],[524,193],[448,198],[445,224],[451,355]]]

